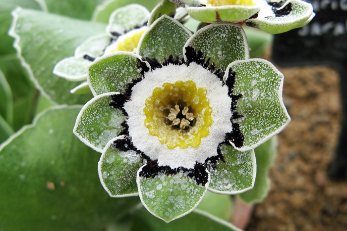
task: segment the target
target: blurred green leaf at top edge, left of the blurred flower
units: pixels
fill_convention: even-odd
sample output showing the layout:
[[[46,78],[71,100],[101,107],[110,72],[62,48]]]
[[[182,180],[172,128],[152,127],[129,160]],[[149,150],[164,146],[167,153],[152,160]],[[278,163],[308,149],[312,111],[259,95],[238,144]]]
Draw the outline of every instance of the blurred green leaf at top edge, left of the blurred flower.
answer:
[[[52,13],[89,20],[95,7],[102,0],[40,0],[46,5],[46,10]]]

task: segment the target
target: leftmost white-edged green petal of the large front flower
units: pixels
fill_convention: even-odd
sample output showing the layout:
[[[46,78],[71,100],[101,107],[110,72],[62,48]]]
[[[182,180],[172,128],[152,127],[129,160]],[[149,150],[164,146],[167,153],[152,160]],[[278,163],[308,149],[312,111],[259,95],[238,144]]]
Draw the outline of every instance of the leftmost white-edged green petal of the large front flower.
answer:
[[[98,95],[87,102],[76,119],[73,133],[85,144],[102,152],[106,144],[123,130],[121,123],[126,116],[122,111],[110,106],[112,95],[109,92]]]

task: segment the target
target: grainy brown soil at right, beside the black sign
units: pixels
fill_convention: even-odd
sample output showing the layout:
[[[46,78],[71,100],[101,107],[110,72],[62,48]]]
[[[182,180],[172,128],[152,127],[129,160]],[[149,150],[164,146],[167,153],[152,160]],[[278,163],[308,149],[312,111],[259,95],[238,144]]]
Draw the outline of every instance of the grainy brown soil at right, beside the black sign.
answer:
[[[271,191],[246,230],[346,231],[347,182],[328,177],[342,118],[339,74],[328,67],[280,71],[291,122],[278,136]]]

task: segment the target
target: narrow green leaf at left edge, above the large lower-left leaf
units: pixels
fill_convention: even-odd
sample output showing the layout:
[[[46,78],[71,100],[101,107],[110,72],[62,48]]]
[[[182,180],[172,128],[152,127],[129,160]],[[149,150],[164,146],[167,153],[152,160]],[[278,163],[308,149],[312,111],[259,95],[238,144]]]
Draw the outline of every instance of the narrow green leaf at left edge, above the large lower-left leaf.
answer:
[[[6,81],[0,69],[0,116],[7,121],[13,123],[13,97],[9,84]]]

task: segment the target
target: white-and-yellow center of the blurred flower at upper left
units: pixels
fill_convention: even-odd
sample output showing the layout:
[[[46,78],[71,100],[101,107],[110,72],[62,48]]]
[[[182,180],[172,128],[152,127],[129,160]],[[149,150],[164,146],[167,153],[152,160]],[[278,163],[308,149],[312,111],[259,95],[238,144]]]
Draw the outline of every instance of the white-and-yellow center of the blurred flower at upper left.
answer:
[[[106,48],[105,53],[111,53],[115,51],[135,51],[142,34],[146,31],[146,28],[147,27],[134,29],[124,35],[119,36],[115,43]]]

